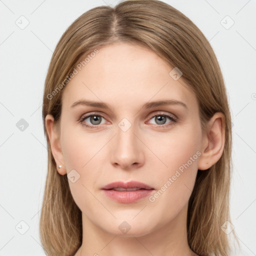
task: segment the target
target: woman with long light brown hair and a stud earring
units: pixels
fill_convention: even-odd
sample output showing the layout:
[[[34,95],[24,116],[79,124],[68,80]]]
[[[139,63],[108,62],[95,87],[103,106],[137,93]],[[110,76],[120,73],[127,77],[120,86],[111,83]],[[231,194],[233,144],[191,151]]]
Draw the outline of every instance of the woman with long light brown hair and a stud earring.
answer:
[[[157,0],[99,6],[43,96],[47,255],[229,255],[231,120],[215,54]]]

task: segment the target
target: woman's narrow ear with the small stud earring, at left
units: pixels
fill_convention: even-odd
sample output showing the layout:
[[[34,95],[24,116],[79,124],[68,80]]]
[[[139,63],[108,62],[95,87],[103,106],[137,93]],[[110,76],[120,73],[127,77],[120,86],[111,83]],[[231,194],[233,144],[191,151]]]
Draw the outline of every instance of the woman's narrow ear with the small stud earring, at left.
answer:
[[[64,175],[66,174],[66,168],[60,145],[60,134],[54,126],[54,118],[51,114],[47,114],[45,117],[45,128],[48,134],[51,152],[57,164],[56,169],[59,174]],[[61,165],[61,167],[59,168],[58,165]]]

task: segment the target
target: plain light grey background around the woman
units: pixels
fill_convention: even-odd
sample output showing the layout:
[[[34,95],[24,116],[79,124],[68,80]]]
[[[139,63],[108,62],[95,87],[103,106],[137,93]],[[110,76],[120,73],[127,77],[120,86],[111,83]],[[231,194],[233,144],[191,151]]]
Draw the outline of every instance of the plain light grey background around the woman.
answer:
[[[241,243],[241,252],[233,255],[256,255],[256,1],[164,1],[201,29],[219,60],[233,123],[230,212]],[[47,167],[41,118],[46,70],[57,41],[75,18],[92,7],[115,3],[0,0],[2,256],[44,255],[38,222]],[[21,118],[28,124],[23,131]]]

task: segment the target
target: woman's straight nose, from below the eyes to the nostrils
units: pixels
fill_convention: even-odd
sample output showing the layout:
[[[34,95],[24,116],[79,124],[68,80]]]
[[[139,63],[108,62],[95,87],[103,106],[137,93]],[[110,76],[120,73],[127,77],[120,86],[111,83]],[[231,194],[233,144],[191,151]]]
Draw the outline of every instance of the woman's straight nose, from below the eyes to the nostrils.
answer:
[[[135,169],[144,164],[143,143],[135,133],[133,125],[124,131],[117,127],[112,139],[111,163],[122,169]]]

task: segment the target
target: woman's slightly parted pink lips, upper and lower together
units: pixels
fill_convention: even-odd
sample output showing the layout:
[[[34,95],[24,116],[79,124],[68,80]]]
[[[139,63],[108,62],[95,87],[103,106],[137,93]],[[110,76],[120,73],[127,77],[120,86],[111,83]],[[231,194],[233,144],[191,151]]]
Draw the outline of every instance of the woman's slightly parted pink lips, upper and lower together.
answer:
[[[113,188],[116,187],[123,187],[123,188],[134,188],[139,187],[139,190],[134,191],[116,191],[113,190]],[[138,182],[138,181],[129,181],[129,182],[122,182],[122,181],[116,181],[112,182],[110,184],[105,185],[101,188],[104,193],[110,197],[111,199],[122,202],[122,203],[131,203],[139,200],[140,198],[143,198],[145,196],[148,196],[152,193],[154,188],[150,187],[147,184]]]

